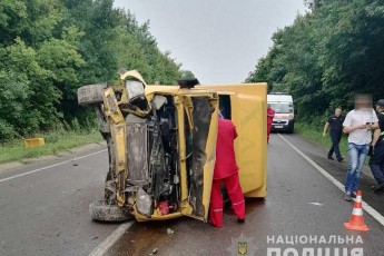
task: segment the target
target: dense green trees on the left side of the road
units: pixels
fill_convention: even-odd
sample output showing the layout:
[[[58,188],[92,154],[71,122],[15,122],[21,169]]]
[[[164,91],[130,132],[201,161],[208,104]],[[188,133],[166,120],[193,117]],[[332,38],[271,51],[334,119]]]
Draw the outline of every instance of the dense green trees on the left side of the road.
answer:
[[[77,89],[137,69],[176,82],[180,65],[114,0],[0,1],[0,141],[89,122]],[[68,125],[69,124],[69,125]]]

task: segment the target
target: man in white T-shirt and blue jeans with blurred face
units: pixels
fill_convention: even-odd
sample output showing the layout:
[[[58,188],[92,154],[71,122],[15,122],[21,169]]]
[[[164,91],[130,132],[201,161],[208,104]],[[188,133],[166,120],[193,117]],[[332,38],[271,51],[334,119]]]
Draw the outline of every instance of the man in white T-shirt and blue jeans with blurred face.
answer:
[[[364,161],[370,151],[372,130],[378,128],[377,116],[372,108],[372,97],[355,96],[355,109],[351,110],[343,122],[343,131],[348,134],[348,170],[345,177],[344,200],[356,196]]]

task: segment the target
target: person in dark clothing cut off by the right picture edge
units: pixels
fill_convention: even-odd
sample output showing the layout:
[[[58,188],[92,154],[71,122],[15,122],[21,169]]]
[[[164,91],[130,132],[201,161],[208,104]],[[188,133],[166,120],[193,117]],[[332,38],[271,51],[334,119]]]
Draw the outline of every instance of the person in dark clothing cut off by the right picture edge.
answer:
[[[374,131],[372,140],[372,156],[370,159],[370,167],[373,174],[373,177],[377,181],[374,193],[383,194],[384,193],[384,99],[381,99],[376,104],[376,112],[378,119],[378,129]]]

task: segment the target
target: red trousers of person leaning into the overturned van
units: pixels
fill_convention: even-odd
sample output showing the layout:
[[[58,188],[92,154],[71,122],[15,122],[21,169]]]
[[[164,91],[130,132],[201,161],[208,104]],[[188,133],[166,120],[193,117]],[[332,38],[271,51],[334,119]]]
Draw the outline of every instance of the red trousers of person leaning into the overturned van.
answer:
[[[220,189],[223,181],[227,188],[228,196],[237,218],[245,218],[245,201],[240,183],[238,180],[238,174],[234,174],[224,179],[214,179],[211,185],[209,215],[213,225],[216,227],[223,227],[223,196]]]

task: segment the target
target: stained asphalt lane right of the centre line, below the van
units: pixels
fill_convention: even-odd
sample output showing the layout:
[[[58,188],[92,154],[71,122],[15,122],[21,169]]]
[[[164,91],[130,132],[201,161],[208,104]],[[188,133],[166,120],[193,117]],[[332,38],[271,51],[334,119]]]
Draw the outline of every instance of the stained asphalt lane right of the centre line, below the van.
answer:
[[[314,157],[316,163],[345,174],[346,164],[328,163],[324,158],[325,150],[312,145],[297,135],[283,135],[285,139]],[[342,176],[342,175],[339,175]],[[370,177],[364,177],[370,179]],[[372,180],[370,180],[372,181]],[[372,181],[373,183],[373,181]],[[377,198],[376,198],[377,199]],[[383,201],[383,197],[380,198]],[[372,216],[365,214],[365,223],[371,230],[349,232],[344,228],[353,209],[353,203],[343,200],[343,193],[325,178],[308,161],[298,155],[278,135],[273,135],[268,145],[268,196],[265,200],[247,200],[246,223],[238,224],[232,210],[226,210],[224,228],[215,228],[201,221],[183,218],[161,223],[136,223],[109,249],[107,255],[239,255],[238,242],[246,240],[254,255],[266,256],[268,248],[303,249],[326,248],[339,250],[363,248],[365,256],[383,256],[384,227]],[[383,213],[383,211],[382,211]],[[167,234],[167,228],[174,230]],[[243,236],[243,237],[242,237]],[[282,244],[279,239],[284,239]],[[317,244],[287,244],[291,238],[305,242],[305,238],[317,239]],[[322,236],[326,239],[322,242]],[[356,243],[361,237],[363,244]],[[238,239],[242,237],[242,239]],[[331,243],[332,237],[346,239],[353,237],[354,244]],[[269,238],[269,243],[268,243]],[[274,239],[274,243],[272,242]],[[278,242],[278,243],[277,243]],[[314,242],[313,242],[314,243]],[[250,252],[249,252],[250,253]],[[326,252],[323,252],[323,255]],[[250,254],[248,254],[250,255]],[[275,255],[275,254],[273,254]],[[293,254],[285,254],[293,255]],[[329,254],[336,255],[336,254]]]

